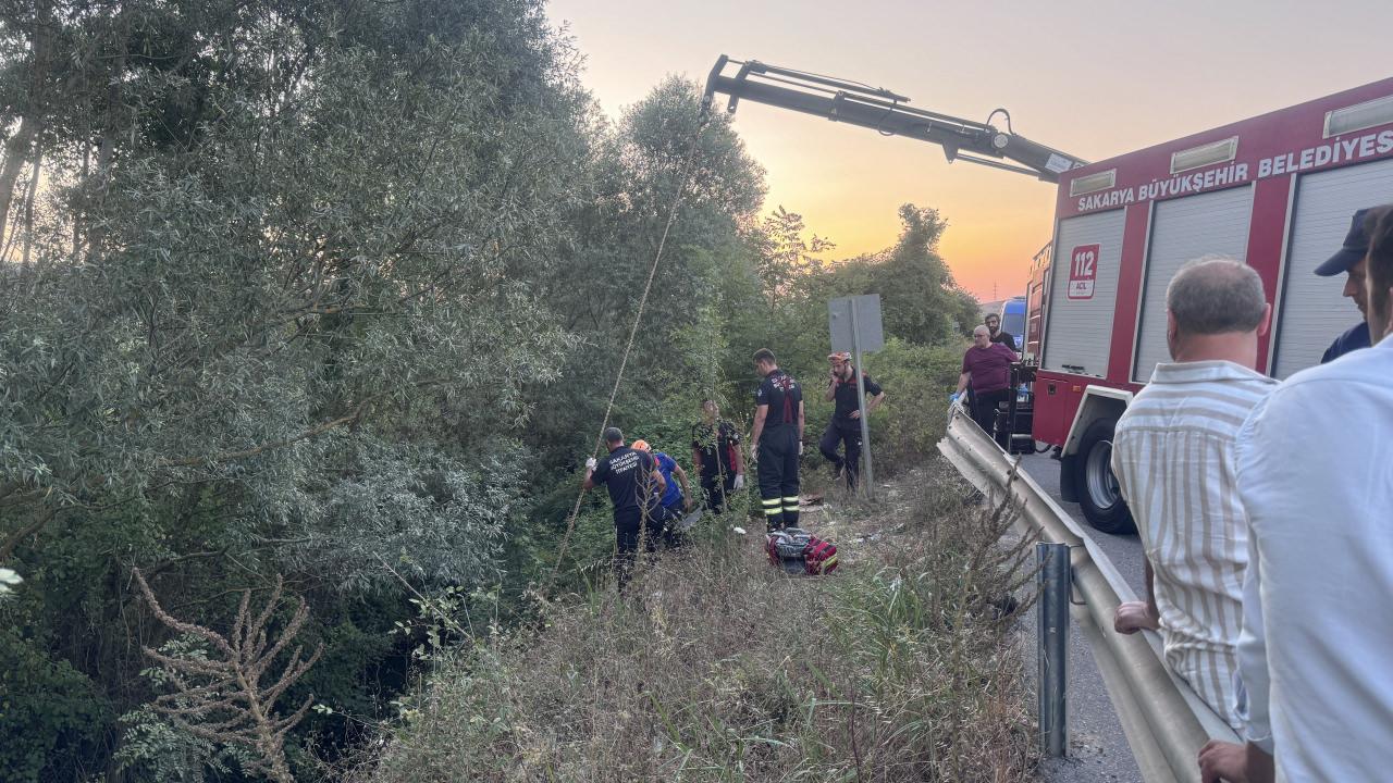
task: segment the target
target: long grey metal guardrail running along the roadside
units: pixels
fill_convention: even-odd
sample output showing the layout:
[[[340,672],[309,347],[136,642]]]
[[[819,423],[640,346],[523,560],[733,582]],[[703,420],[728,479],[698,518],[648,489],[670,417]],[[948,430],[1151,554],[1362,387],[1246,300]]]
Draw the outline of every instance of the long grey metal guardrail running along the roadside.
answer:
[[[1010,490],[1021,509],[1021,532],[1070,546],[1074,587],[1082,598],[1070,612],[1094,652],[1142,777],[1148,783],[1198,782],[1199,748],[1211,738],[1238,743],[1238,736],[1170,672],[1159,635],[1113,631],[1117,605],[1137,596],[1107,555],[1035,479],[1017,470],[1018,458],[1002,451],[956,404],[939,451],[982,493],[1002,497]]]

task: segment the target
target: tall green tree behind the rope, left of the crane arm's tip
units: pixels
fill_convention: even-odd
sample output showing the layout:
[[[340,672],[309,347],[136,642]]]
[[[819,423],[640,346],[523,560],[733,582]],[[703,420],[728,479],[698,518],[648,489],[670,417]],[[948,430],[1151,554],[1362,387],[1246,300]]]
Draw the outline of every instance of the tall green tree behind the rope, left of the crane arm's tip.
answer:
[[[532,426],[538,447],[571,457],[599,435],[674,205],[613,419],[630,426],[646,418],[648,401],[681,396],[674,408],[681,407],[713,383],[708,348],[720,341],[716,313],[731,308],[731,287],[751,287],[755,256],[742,233],[765,189],[763,171],[730,120],[703,118],[698,86],[678,78],[630,107],[602,135],[595,156],[593,195],[575,217],[578,237],[545,283],[546,301],[581,344],[567,355],[566,383],[536,390]],[[702,350],[683,350],[690,341],[678,336],[692,329],[705,334]],[[695,418],[695,401],[690,408]]]

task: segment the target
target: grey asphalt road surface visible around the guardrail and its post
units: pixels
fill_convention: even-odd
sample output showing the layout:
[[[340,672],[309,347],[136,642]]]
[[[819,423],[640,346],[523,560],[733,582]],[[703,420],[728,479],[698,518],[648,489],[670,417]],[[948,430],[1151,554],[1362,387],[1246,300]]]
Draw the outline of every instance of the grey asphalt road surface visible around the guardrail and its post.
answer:
[[[1066,503],[1059,496],[1059,463],[1048,454],[1025,457],[1025,472],[1050,497],[1088,529],[1137,595],[1144,591],[1141,541],[1135,535],[1107,535],[1087,527],[1077,503]],[[1035,644],[1035,614],[1025,623],[1028,644]],[[1099,780],[1141,783],[1141,770],[1133,759],[1127,737],[1117,723],[1113,704],[1103,688],[1094,655],[1077,623],[1070,623],[1068,637],[1068,751],[1063,759],[1048,759],[1041,768],[1041,779],[1049,783],[1094,783]]]

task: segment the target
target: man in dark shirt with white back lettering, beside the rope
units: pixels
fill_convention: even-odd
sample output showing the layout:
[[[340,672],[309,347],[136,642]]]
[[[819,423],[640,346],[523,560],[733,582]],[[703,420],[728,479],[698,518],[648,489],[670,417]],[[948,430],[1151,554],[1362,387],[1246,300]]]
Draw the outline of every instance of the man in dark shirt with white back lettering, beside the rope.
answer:
[[[634,553],[639,541],[648,550],[655,549],[659,529],[657,497],[667,488],[657,463],[648,451],[624,446],[624,433],[617,426],[605,431],[605,444],[609,449],[599,463],[595,457],[585,460],[585,481],[581,486],[591,489],[603,483],[614,503],[614,541],[618,549],[616,570],[618,587],[628,584],[634,567]]]

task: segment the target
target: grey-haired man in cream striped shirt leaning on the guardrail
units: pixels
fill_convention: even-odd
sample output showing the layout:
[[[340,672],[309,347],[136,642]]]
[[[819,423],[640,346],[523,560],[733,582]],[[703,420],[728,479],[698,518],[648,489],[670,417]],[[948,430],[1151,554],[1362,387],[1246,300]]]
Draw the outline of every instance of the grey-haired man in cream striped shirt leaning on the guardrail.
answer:
[[[1173,362],[1156,366],[1113,436],[1113,472],[1146,552],[1148,592],[1117,607],[1116,630],[1159,628],[1170,667],[1236,730],[1248,536],[1234,442],[1276,386],[1252,369],[1270,315],[1262,280],[1243,262],[1183,266],[1166,288]]]

